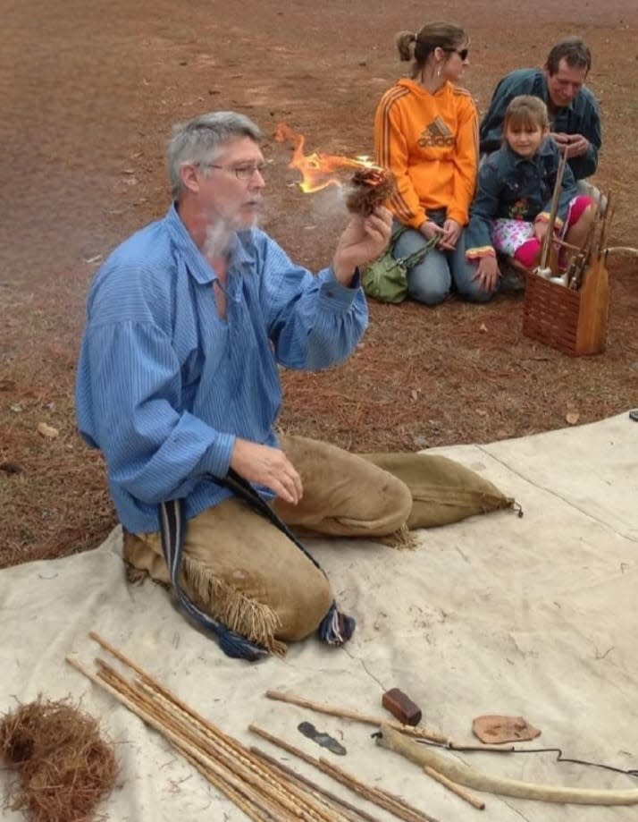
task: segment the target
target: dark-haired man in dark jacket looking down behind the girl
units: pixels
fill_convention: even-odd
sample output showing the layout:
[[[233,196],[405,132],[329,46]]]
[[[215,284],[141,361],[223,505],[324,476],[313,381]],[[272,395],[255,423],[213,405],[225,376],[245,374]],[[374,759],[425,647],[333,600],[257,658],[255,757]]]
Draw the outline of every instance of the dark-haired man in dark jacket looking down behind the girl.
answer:
[[[592,67],[592,54],[581,38],[561,40],[552,47],[541,69],[510,72],[494,90],[490,108],[479,131],[481,151],[490,154],[500,146],[503,117],[510,101],[521,94],[541,97],[550,114],[550,136],[567,151],[576,182],[595,173],[602,142],[600,110],[584,83]],[[590,193],[587,185],[579,185]]]

